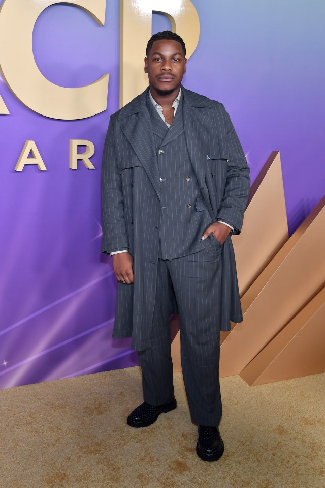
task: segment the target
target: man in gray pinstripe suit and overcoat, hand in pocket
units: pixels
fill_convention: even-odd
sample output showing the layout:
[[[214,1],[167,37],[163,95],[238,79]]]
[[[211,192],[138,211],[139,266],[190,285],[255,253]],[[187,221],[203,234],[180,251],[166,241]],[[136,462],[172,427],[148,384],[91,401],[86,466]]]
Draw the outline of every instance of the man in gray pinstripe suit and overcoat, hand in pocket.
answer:
[[[111,117],[103,155],[103,245],[118,280],[113,337],[132,336],[145,427],[176,408],[169,318],[180,318],[181,361],[197,454],[223,453],[219,335],[242,320],[230,233],[239,234],[249,169],[223,105],[181,85],[183,40],[148,41],[149,88]]]

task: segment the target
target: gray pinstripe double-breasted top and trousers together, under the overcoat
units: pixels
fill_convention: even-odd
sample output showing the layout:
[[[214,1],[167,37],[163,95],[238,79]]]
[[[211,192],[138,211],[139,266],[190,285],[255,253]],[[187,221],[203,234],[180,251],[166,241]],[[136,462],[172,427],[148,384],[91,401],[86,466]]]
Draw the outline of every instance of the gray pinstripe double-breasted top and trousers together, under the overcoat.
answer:
[[[158,260],[151,348],[139,352],[144,399],[151,405],[162,405],[173,398],[169,317],[175,298],[192,421],[218,425],[222,413],[218,377],[222,248],[213,237],[214,242],[201,240],[212,219],[189,159],[182,101],[170,129],[148,96],[146,104],[160,175],[159,257],[164,259]]]

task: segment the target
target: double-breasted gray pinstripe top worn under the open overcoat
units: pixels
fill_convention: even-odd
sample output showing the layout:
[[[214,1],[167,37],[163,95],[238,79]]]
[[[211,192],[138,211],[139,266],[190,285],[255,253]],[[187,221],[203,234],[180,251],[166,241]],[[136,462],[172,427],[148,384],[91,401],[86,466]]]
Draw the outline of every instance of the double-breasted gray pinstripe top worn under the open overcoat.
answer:
[[[189,159],[182,101],[168,129],[147,96],[157,167],[162,180],[159,180],[161,219],[158,256],[163,259],[186,256],[207,247],[210,240],[202,241],[201,236],[213,222]],[[163,152],[159,154],[158,150]]]

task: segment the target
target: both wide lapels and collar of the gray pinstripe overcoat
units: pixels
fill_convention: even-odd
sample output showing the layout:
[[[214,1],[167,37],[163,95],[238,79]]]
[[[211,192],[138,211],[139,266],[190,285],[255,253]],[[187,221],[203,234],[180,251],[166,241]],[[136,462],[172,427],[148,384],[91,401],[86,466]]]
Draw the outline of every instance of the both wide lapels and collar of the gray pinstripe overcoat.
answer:
[[[149,87],[123,107],[118,119],[121,129],[135,150],[160,199],[156,149],[146,96]],[[213,214],[205,184],[208,143],[214,105],[209,98],[186,90],[183,94],[183,121],[189,157],[210,213]]]

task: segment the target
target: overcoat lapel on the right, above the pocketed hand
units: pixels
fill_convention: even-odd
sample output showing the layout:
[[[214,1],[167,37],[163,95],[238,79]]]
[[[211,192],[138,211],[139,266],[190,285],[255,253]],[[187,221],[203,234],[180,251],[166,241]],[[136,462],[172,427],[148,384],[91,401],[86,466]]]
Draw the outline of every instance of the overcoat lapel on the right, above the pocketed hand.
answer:
[[[197,100],[196,97],[189,95],[183,87],[182,91],[184,94],[183,120],[187,149],[205,203],[213,218],[214,213],[205,182],[212,118],[202,111],[202,108],[206,108],[206,112],[209,113],[209,109],[213,108],[213,105],[210,100],[202,102],[202,97],[200,97],[201,100]]]

